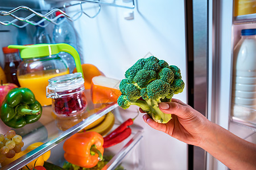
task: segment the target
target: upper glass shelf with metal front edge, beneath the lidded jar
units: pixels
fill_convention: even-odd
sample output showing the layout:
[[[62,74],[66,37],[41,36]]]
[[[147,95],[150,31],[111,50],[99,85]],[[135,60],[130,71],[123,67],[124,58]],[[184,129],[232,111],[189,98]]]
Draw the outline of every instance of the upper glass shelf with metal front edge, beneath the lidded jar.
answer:
[[[96,121],[98,118],[104,116],[104,114],[117,108],[117,106],[118,104],[116,102],[109,103],[104,108],[99,109],[99,111],[97,111],[96,113],[81,120],[76,125],[72,126],[71,128],[65,131],[61,131],[57,127],[56,120],[52,116],[51,106],[44,107],[42,117],[39,121],[33,124],[26,125],[20,129],[14,129],[16,131],[16,134],[22,135],[23,137],[23,148],[26,148],[27,146],[35,142],[44,142],[44,144],[28,152],[26,155],[23,155],[19,159],[16,159],[14,162],[6,165],[5,167],[2,167],[1,170],[16,170],[24,167],[24,165],[26,165],[27,163],[38,158],[45,152],[51,150],[51,148],[59,145],[61,142],[65,141],[65,139],[71,137],[71,135],[84,129],[86,126]],[[86,112],[83,114],[86,114]],[[134,141],[137,141],[137,139],[134,139]]]

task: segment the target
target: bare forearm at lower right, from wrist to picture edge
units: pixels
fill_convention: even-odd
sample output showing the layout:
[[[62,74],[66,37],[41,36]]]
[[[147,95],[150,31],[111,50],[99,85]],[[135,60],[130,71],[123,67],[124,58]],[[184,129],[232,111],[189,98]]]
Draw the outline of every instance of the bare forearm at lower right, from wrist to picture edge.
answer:
[[[209,124],[210,129],[199,147],[230,169],[256,169],[254,143],[247,142],[212,122]]]

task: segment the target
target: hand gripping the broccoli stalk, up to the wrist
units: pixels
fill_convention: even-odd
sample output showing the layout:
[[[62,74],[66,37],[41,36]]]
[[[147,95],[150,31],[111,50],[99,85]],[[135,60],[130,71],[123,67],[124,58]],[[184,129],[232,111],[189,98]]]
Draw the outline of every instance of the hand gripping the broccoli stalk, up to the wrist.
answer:
[[[210,126],[210,121],[203,114],[177,99],[160,103],[159,108],[163,113],[172,114],[172,119],[167,124],[155,122],[148,114],[143,115],[144,122],[180,141],[200,146],[204,133],[207,133],[207,126]],[[140,111],[143,112],[141,108]]]

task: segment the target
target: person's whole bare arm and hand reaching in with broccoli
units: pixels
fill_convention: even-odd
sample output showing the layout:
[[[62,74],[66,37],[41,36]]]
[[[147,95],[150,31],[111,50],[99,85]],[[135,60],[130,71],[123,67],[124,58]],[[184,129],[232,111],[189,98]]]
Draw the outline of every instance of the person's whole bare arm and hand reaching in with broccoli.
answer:
[[[255,169],[256,145],[210,122],[201,113],[180,100],[161,103],[162,112],[172,114],[167,124],[158,124],[147,114],[143,120],[156,130],[163,131],[185,143],[199,146],[230,169]]]

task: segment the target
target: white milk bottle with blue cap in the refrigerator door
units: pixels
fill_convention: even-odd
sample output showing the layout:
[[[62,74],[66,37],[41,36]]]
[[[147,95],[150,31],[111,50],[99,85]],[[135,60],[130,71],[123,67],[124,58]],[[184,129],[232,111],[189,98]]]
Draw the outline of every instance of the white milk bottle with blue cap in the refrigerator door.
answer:
[[[242,29],[233,57],[233,114],[253,120],[256,118],[256,29]]]

